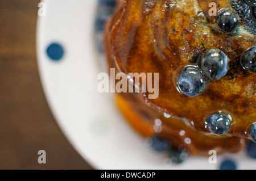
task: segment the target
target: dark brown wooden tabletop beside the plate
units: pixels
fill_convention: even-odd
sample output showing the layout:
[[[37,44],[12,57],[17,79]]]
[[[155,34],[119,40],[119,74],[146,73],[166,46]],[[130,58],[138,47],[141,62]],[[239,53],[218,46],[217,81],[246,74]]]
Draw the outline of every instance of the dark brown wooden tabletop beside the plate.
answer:
[[[36,62],[36,0],[0,1],[0,169],[92,169],[57,126]],[[46,164],[38,151],[46,151]]]

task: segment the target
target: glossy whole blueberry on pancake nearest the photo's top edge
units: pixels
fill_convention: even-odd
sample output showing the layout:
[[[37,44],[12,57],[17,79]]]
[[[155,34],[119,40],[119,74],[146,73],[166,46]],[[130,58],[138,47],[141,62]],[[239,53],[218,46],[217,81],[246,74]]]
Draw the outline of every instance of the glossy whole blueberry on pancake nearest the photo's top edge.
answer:
[[[216,22],[218,30],[229,33],[236,30],[239,24],[239,15],[233,8],[224,8],[218,11]]]

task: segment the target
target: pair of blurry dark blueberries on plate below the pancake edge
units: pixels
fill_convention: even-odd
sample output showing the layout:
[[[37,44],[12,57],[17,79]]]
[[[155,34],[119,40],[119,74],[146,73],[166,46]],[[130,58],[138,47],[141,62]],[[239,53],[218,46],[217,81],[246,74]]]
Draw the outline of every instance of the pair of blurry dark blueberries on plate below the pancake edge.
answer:
[[[167,151],[172,164],[181,163],[188,157],[188,150],[184,146],[174,148],[169,140],[158,135],[152,137],[151,146],[158,152]]]

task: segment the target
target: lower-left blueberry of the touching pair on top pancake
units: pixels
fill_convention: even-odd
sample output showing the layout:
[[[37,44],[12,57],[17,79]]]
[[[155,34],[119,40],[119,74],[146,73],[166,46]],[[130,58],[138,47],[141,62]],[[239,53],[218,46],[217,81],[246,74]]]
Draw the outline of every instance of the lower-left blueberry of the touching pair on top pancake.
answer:
[[[197,66],[185,66],[177,77],[177,89],[187,96],[195,97],[202,94],[208,85],[209,81]]]

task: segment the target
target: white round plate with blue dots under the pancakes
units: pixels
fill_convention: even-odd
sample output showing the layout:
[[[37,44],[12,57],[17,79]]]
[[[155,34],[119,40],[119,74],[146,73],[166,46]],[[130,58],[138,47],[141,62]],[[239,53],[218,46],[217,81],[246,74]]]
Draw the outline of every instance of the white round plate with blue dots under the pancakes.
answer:
[[[59,127],[73,147],[95,169],[218,169],[222,159],[238,169],[256,169],[242,151],[218,155],[217,164],[189,157],[180,165],[164,165],[164,155],[143,144],[113,101],[97,91],[97,74],[104,71],[94,43],[96,0],[46,0],[46,16],[38,17],[37,53],[46,98]],[[52,42],[63,45],[61,61],[49,60]]]

